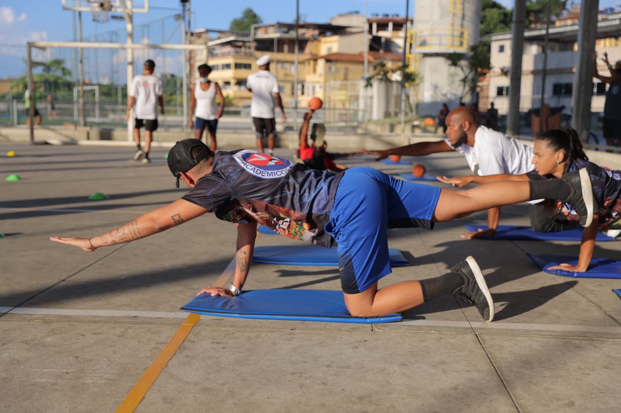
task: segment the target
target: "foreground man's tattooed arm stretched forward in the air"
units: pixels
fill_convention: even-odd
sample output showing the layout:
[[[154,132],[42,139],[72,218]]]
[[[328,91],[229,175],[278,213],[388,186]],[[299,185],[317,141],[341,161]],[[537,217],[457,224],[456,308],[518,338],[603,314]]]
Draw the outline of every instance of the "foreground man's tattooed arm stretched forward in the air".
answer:
[[[125,242],[135,241],[153,234],[161,233],[166,229],[173,228],[185,221],[189,221],[197,216],[208,212],[205,208],[194,205],[191,202],[180,199],[166,207],[147,212],[139,216],[134,221],[127,223],[119,228],[112,229],[109,233],[101,234],[93,238],[61,238],[52,237],[50,241],[60,242],[80,247],[84,251],[93,252],[99,247],[106,247]]]

